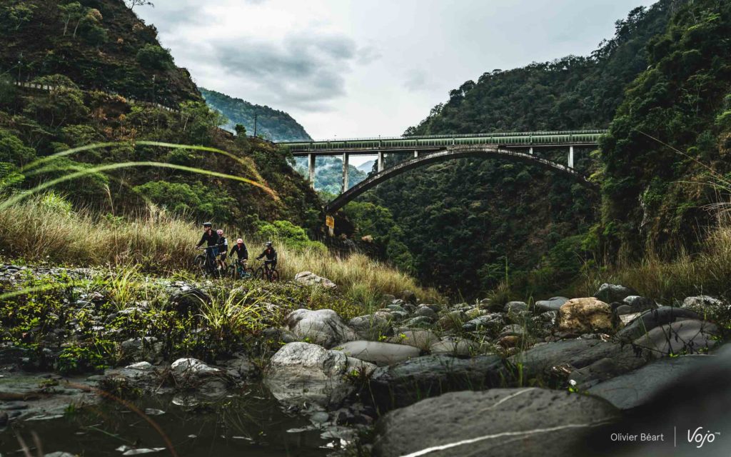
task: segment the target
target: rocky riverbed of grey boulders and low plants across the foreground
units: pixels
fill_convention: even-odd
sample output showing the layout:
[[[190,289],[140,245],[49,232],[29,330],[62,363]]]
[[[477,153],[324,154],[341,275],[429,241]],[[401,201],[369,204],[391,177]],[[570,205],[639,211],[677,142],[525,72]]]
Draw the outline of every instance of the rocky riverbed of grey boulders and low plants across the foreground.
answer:
[[[95,274],[7,265],[0,282],[7,293],[29,276],[48,282]],[[147,300],[110,306],[121,292],[107,280],[53,295],[60,303],[42,306],[41,317],[21,332],[17,318],[4,317],[9,337],[0,348],[0,453],[18,450],[17,437],[26,431],[42,431],[42,437],[76,412],[112,408],[138,421],[151,418],[164,433],[135,441],[134,428],[106,413],[94,417],[99,422],[91,431],[88,423],[64,425],[69,436],[102,434],[98,429],[106,438],[129,441],[122,450],[95,446],[84,455],[170,446],[178,455],[197,455],[185,444],[188,435],[175,431],[175,421],[160,420],[170,415],[158,417],[170,410],[185,415],[186,423],[213,420],[226,428],[221,436],[229,444],[218,447],[220,455],[245,448],[282,456],[292,449],[303,456],[512,456],[516,446],[521,456],[544,456],[546,449],[586,455],[609,449],[612,431],[638,412],[652,416],[645,409],[658,410],[656,402],[667,399],[677,382],[696,376],[713,387],[704,374],[729,360],[721,347],[728,305],[712,297],[664,306],[628,287],[603,284],[593,297],[447,304],[420,303],[404,291],[400,298],[384,297],[382,308],[344,318],[327,309],[327,301],[311,306],[308,291],[334,293],[336,284],[311,273],[298,276],[301,284],[276,294],[243,287],[246,300],[235,306],[216,298],[221,284],[184,280],[149,280],[155,294],[145,289]],[[44,296],[24,295],[14,303],[25,309]],[[332,297],[333,303],[342,300]],[[256,320],[235,320],[251,328],[221,333],[220,325],[200,318],[213,304],[229,306],[226,315],[246,309]],[[336,308],[353,314],[352,307]],[[159,319],[175,323],[166,327]],[[191,341],[181,344],[186,339]],[[94,344],[109,347],[103,359],[88,354]],[[243,399],[254,399],[267,413],[237,435],[220,412]],[[692,395],[674,400],[678,410],[688,399]],[[251,404],[238,412],[256,410]],[[656,434],[667,434],[668,426],[673,428],[656,420]],[[177,441],[165,441],[165,433]],[[203,435],[213,439],[216,433]],[[306,438],[293,440],[298,434]],[[200,443],[201,434],[189,435]],[[232,438],[238,436],[246,438]],[[587,442],[596,449],[587,449]],[[44,449],[83,450],[56,447]]]

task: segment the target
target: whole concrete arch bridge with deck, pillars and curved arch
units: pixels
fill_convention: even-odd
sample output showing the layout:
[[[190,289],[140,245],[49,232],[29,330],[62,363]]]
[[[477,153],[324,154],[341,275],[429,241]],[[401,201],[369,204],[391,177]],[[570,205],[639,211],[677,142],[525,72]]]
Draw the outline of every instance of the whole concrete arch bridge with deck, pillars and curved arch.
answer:
[[[548,167],[575,178],[580,184],[593,187],[586,176],[574,168],[575,148],[593,148],[606,130],[575,130],[568,132],[485,133],[476,135],[433,135],[421,137],[373,137],[347,140],[297,141],[278,143],[286,146],[293,156],[306,156],[308,178],[314,185],[317,156],[342,156],[343,178],[341,194],[325,207],[333,214],[346,203],[368,189],[396,175],[423,165],[466,157],[504,158]],[[534,154],[536,148],[567,148],[566,165]],[[413,154],[412,158],[385,168],[384,154]],[[377,155],[377,173],[350,187],[349,157]]]

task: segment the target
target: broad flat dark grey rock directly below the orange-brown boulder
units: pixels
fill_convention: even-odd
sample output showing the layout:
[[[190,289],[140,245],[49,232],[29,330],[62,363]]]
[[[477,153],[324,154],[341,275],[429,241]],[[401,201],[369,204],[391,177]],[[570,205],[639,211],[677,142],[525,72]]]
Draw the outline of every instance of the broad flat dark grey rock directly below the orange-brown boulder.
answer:
[[[629,345],[621,345],[600,339],[573,339],[553,343],[537,344],[530,350],[520,352],[508,358],[513,366],[520,363],[523,367],[523,379],[531,377],[566,379],[577,369],[593,367],[602,359],[612,359],[614,376],[643,366],[648,362],[646,355],[637,355]],[[594,367],[596,368],[596,367]],[[606,371],[600,371],[603,373]],[[583,382],[590,382],[601,374],[593,374],[591,369],[583,377]]]

